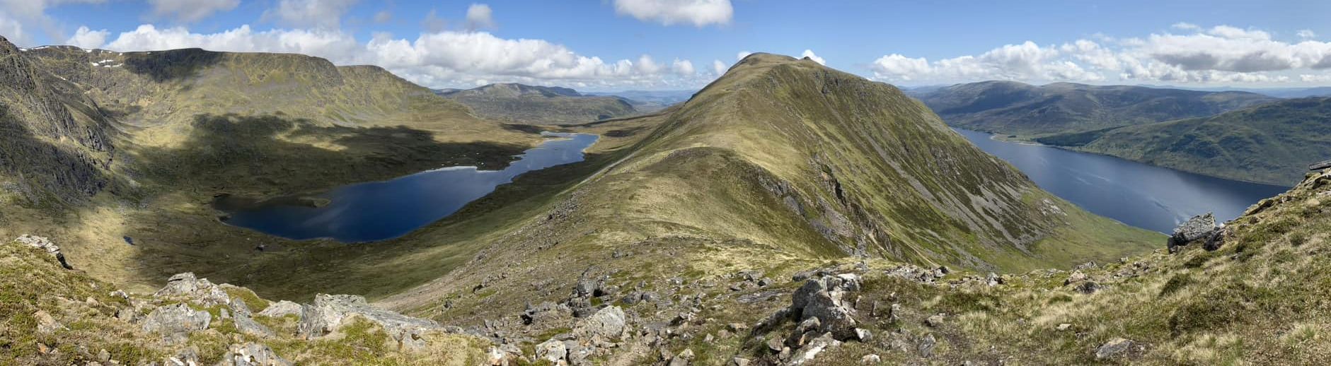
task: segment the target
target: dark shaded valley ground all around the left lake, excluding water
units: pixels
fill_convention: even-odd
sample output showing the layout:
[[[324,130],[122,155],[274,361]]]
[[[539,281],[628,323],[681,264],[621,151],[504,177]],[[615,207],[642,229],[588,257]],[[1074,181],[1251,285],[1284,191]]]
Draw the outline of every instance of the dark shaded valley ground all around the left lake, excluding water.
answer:
[[[478,237],[531,217],[554,194],[611,161],[587,154],[588,162],[531,172],[403,238],[347,245],[228,226],[209,204],[220,193],[276,197],[438,166],[502,169],[527,146],[438,142],[429,132],[405,126],[319,126],[281,114],[196,116],[193,132],[174,145],[180,148],[141,150],[133,162],[148,208],[132,212],[122,228],[138,246],[130,258],[137,278],[160,283],[194,272],[291,299],[314,293],[383,295],[437,278],[470,258]],[[421,258],[419,248],[445,249]]]

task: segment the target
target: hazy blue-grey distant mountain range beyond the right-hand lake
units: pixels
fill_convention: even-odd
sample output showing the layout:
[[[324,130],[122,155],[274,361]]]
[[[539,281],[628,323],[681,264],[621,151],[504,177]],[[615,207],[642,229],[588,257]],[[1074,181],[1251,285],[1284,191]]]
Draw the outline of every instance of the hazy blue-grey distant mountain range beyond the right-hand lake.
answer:
[[[984,81],[942,88],[920,100],[952,126],[1040,136],[1211,116],[1276,98],[1247,92]]]

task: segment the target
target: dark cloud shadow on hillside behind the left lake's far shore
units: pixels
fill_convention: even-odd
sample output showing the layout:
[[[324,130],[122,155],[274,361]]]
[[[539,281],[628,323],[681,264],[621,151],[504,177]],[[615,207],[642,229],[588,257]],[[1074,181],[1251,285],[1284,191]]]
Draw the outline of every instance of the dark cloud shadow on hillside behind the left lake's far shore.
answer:
[[[282,114],[198,114],[177,148],[148,148],[140,173],[161,189],[299,193],[446,165],[502,169],[526,146],[439,142],[407,126],[321,126]]]

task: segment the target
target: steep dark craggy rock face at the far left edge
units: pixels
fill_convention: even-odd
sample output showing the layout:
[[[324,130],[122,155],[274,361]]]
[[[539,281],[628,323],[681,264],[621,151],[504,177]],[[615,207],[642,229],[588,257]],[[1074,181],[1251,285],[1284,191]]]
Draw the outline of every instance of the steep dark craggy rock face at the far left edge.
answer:
[[[109,118],[0,37],[0,196],[79,201],[106,186]]]

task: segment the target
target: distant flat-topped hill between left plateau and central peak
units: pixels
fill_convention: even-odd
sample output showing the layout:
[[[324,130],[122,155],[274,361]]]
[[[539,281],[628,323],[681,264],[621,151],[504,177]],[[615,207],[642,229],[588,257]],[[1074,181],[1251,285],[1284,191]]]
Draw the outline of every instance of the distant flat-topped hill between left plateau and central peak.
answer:
[[[622,98],[584,96],[568,88],[490,84],[439,94],[482,116],[524,124],[584,124],[638,114]]]

